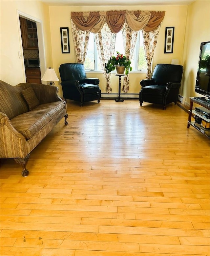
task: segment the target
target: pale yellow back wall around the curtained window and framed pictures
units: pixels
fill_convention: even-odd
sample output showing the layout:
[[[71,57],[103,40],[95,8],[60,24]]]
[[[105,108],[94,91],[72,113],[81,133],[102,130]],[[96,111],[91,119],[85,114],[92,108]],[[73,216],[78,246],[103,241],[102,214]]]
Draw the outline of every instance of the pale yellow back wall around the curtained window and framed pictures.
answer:
[[[52,56],[53,68],[58,71],[60,64],[75,62],[74,43],[71,31],[71,12],[79,11],[108,11],[108,10],[154,10],[165,11],[165,17],[161,24],[158,43],[154,55],[153,66],[157,63],[171,63],[172,59],[179,59],[181,64],[185,35],[185,24],[187,6],[107,6],[107,7],[50,7],[51,36],[52,36]],[[164,54],[165,27],[175,26],[174,51],[171,54]],[[70,54],[61,53],[60,27],[69,27],[70,33]],[[58,77],[59,72],[57,72]],[[98,77],[102,93],[106,92],[106,79],[102,73],[87,73],[88,77]],[[129,93],[139,93],[141,79],[145,79],[146,74],[130,73]],[[118,92],[118,77],[111,75],[113,93]],[[58,83],[59,84],[59,83]],[[61,87],[59,88],[60,90]]]

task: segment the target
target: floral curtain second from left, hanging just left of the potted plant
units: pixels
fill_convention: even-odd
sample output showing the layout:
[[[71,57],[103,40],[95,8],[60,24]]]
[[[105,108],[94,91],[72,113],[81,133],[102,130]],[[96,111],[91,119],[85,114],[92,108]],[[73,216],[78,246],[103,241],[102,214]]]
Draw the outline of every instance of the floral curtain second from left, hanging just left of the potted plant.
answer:
[[[112,86],[110,82],[111,73],[107,74],[105,70],[105,63],[109,60],[110,56],[114,55],[115,51],[115,39],[116,35],[109,29],[108,24],[105,22],[100,32],[95,34],[95,42],[99,52],[99,59],[104,76],[107,81],[106,92],[112,92]]]

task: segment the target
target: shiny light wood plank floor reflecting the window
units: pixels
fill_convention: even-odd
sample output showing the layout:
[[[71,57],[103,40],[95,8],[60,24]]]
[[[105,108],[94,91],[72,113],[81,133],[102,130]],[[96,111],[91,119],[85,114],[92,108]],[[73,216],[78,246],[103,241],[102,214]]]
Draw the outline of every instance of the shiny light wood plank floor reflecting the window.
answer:
[[[210,255],[210,140],[173,103],[68,101],[31,152],[1,165],[1,256]]]

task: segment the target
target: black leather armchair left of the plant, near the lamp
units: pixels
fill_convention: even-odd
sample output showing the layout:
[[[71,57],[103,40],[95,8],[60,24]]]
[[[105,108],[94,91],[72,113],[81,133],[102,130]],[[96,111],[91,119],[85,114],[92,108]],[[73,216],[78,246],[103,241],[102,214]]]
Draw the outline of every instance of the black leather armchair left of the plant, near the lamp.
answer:
[[[61,86],[65,100],[83,102],[101,99],[101,89],[98,78],[87,78],[84,65],[79,63],[61,64],[59,68]]]

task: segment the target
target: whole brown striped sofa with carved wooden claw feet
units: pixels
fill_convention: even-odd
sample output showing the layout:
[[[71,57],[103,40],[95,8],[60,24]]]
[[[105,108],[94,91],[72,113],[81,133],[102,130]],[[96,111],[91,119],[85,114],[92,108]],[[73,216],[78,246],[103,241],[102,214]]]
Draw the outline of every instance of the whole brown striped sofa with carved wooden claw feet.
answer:
[[[14,158],[28,176],[30,152],[63,117],[67,125],[66,102],[57,87],[0,81],[0,157]]]

